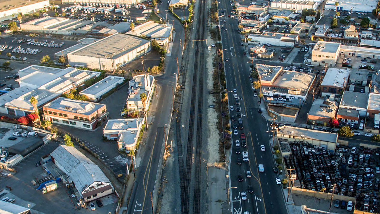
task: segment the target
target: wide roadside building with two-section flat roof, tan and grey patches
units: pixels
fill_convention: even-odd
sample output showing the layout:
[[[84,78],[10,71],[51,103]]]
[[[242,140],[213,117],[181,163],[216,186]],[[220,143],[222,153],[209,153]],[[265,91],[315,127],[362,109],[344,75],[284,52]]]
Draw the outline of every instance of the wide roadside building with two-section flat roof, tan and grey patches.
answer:
[[[256,64],[264,97],[283,98],[302,104],[315,80],[313,73],[282,70],[280,66]]]

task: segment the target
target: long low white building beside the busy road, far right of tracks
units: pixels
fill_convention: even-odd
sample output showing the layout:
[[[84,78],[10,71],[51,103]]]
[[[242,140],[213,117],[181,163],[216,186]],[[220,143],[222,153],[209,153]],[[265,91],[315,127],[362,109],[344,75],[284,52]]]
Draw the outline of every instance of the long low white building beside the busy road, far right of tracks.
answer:
[[[275,46],[287,46],[294,47],[294,44],[298,42],[298,35],[295,34],[279,34],[264,32],[261,35],[250,34],[248,35],[249,44],[271,44]]]

